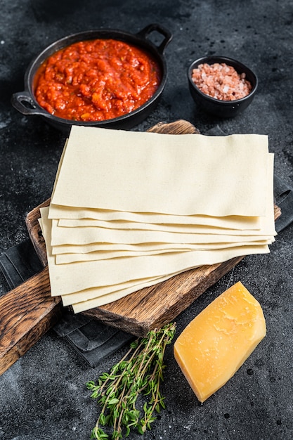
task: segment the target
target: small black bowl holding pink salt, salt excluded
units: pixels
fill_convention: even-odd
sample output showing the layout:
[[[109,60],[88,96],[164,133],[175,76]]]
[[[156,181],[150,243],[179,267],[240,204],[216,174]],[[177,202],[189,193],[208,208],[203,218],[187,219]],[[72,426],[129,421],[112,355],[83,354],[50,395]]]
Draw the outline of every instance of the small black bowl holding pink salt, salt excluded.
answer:
[[[220,101],[219,99],[211,98],[211,96],[202,93],[193,82],[192,75],[193,69],[196,69],[198,65],[203,63],[209,65],[214,63],[226,63],[234,67],[238,73],[245,73],[246,79],[252,84],[252,91],[249,95],[245,96],[245,98],[236,99],[235,101]],[[206,56],[193,61],[190,67],[188,67],[188,84],[191,96],[193,96],[195,103],[197,103],[202,110],[217,117],[234,117],[252,103],[258,86],[258,79],[252,70],[237,60],[225,56]]]

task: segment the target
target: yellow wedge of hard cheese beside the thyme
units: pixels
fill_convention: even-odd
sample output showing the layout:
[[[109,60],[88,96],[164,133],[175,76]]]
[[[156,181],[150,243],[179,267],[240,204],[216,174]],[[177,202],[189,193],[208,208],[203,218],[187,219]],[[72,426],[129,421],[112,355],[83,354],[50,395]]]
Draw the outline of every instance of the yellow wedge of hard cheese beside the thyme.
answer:
[[[259,302],[238,282],[183,330],[174,356],[197,399],[223,387],[266,335]]]

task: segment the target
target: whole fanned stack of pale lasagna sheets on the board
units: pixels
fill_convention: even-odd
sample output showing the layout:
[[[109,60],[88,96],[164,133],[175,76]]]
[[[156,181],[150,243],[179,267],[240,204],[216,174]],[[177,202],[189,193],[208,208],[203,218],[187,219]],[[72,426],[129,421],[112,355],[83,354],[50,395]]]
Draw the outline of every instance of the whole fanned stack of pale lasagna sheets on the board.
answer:
[[[268,138],[72,127],[39,222],[51,295],[75,313],[191,268],[268,253]]]

